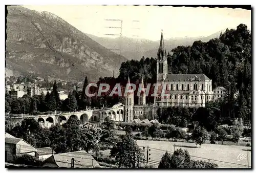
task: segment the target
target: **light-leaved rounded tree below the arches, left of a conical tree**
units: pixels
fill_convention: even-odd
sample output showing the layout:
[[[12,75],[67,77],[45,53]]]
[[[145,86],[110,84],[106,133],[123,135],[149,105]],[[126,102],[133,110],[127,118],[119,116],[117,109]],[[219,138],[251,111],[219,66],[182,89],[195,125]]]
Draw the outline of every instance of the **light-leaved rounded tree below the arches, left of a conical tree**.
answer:
[[[85,123],[80,127],[81,131],[81,147],[89,152],[97,146],[100,140],[101,129],[93,123]]]

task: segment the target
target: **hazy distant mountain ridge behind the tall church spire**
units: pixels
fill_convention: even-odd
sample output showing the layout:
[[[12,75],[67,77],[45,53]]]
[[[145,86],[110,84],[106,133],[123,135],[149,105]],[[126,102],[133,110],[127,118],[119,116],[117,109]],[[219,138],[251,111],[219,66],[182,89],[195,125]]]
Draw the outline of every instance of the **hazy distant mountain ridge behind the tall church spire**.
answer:
[[[212,38],[217,38],[220,36],[221,32],[225,32],[226,29],[218,31],[214,34],[211,34],[207,37],[175,37],[164,40],[164,46],[167,51],[171,51],[177,46],[188,46],[192,45],[194,41],[209,41]],[[159,47],[160,42],[160,33],[159,40],[152,41],[148,39],[137,39],[137,38],[129,38],[129,37],[118,37],[118,38],[110,38],[110,37],[97,37],[95,35],[87,34],[93,40],[97,41],[100,45],[113,49],[113,52],[116,52],[128,59],[136,59],[139,60],[144,57],[156,57],[157,49]]]

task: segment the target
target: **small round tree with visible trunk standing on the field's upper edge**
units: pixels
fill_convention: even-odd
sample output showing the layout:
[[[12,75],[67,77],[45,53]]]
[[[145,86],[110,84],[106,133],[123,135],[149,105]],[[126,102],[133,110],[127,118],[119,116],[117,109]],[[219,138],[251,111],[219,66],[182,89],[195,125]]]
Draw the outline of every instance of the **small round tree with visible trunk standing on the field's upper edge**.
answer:
[[[192,138],[196,141],[196,144],[199,144],[201,148],[201,144],[205,143],[205,141],[208,139],[208,132],[204,127],[199,126],[193,131]]]

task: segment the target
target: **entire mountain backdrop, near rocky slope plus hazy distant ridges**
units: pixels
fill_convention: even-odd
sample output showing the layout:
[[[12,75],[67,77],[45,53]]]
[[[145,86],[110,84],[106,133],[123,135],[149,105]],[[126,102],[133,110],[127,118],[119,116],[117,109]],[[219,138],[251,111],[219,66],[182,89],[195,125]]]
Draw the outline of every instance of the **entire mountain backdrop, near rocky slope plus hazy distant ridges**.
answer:
[[[21,6],[7,7],[6,76],[34,74],[43,78],[89,81],[118,76],[121,63],[156,57],[159,41],[138,38],[109,38],[85,34],[50,12]],[[90,25],[90,24],[84,24]],[[167,51],[177,46],[208,41],[207,37],[164,40]],[[160,33],[159,33],[160,38]]]

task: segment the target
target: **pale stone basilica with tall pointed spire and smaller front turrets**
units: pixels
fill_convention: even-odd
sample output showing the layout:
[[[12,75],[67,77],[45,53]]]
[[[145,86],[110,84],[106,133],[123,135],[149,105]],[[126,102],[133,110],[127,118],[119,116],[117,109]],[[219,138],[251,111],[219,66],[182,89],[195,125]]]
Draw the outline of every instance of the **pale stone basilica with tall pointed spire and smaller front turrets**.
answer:
[[[168,74],[163,33],[161,33],[160,46],[157,52],[156,68],[156,83],[159,87],[156,89],[157,94],[154,97],[154,104],[146,104],[143,79],[141,79],[142,91],[138,105],[134,105],[133,92],[127,93],[125,97],[124,121],[133,122],[135,119],[152,120],[159,107],[204,107],[206,102],[215,101],[225,95],[226,90],[223,87],[217,87],[212,91],[211,80],[204,74]],[[127,84],[130,84],[130,79],[128,79]]]

